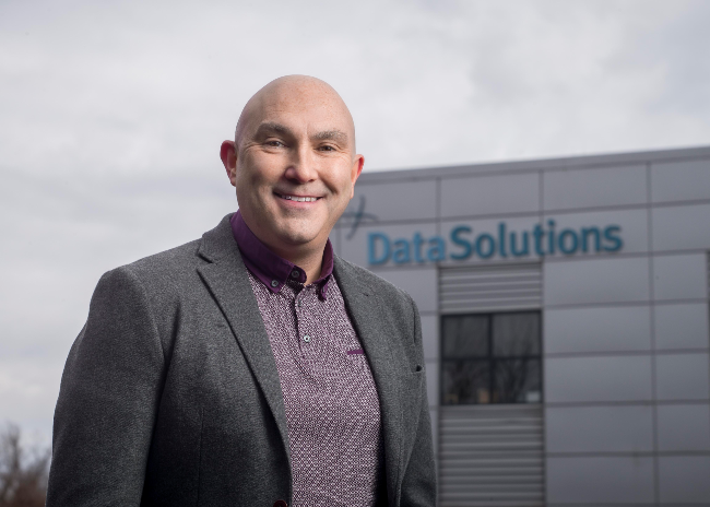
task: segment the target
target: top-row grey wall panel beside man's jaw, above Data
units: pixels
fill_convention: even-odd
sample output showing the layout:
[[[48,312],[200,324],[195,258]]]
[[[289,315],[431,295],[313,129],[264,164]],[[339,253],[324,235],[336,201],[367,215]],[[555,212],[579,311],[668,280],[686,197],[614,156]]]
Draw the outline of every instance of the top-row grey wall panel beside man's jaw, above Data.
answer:
[[[352,215],[364,211],[379,221],[434,219],[436,216],[436,181],[398,181],[395,184],[355,185],[341,223],[347,226]],[[365,217],[365,220],[375,220]]]

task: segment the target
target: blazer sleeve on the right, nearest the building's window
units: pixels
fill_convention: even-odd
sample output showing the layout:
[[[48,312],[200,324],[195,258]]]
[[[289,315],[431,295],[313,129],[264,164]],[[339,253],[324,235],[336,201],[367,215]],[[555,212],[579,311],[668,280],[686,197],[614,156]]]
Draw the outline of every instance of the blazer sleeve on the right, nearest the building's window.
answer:
[[[414,310],[414,353],[416,362],[424,365],[422,346],[422,319],[416,304],[411,299]],[[423,373],[425,375],[425,373]],[[401,503],[403,507],[434,507],[437,498],[436,465],[434,457],[434,439],[429,417],[426,376],[422,379],[421,412],[418,426],[414,437],[412,455],[402,480]]]

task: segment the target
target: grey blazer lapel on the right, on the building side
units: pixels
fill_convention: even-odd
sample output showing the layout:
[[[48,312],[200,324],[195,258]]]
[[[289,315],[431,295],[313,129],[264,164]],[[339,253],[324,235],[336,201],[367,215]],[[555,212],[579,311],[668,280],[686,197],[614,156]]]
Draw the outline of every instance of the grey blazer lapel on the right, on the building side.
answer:
[[[335,258],[334,274],[343,293],[345,308],[363,342],[380,398],[387,493],[390,505],[397,505],[402,452],[403,378],[397,368],[393,368],[397,362],[389,341],[382,335],[382,321],[377,318],[381,311],[379,297],[369,287],[362,284],[338,257]]]

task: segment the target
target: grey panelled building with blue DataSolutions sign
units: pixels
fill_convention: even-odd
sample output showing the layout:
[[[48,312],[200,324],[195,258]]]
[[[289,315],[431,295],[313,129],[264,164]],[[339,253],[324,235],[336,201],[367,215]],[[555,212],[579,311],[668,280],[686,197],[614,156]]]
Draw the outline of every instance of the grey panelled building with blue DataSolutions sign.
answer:
[[[332,239],[418,304],[441,506],[710,506],[710,148],[364,174]]]

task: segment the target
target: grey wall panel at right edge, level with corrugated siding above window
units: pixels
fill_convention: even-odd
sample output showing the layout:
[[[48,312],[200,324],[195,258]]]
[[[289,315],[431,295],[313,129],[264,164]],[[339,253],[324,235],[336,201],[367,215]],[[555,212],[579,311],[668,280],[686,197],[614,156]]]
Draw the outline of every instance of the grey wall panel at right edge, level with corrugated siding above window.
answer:
[[[707,283],[705,254],[653,258],[653,295],[656,300],[705,298],[708,295]]]

